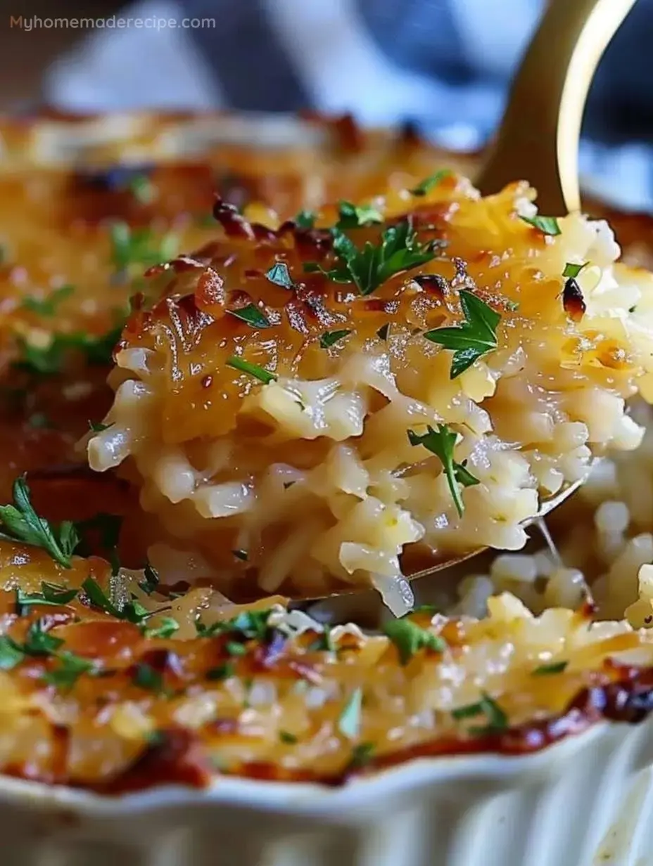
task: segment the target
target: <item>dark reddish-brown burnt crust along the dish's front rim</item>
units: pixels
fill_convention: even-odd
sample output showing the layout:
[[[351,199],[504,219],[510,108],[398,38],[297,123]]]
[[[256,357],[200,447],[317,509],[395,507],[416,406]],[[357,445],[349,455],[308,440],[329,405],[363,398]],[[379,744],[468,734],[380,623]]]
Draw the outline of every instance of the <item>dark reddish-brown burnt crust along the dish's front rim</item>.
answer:
[[[237,766],[230,772],[212,766],[209,750],[202,746],[199,734],[183,727],[157,731],[153,742],[114,779],[97,785],[82,785],[69,781],[63,772],[39,775],[28,765],[6,766],[3,774],[16,779],[46,785],[66,785],[102,795],[117,796],[146,791],[158,785],[185,785],[207,788],[215,779],[239,778],[270,782],[313,783],[340,787],[361,775],[390,769],[424,758],[460,758],[480,754],[518,757],[544,751],[548,746],[583,734],[601,721],[625,722],[634,725],[645,721],[653,711],[653,667],[637,669],[616,662],[605,662],[606,674],[612,671],[617,680],[589,685],[578,690],[565,710],[551,718],[526,722],[495,734],[471,738],[438,738],[394,753],[369,757],[362,766],[356,762],[337,773],[316,773],[308,770],[288,770],[270,762],[255,761]],[[225,733],[236,733],[231,725]],[[218,725],[217,729],[222,730]],[[56,726],[58,766],[64,765],[63,753],[69,732]]]

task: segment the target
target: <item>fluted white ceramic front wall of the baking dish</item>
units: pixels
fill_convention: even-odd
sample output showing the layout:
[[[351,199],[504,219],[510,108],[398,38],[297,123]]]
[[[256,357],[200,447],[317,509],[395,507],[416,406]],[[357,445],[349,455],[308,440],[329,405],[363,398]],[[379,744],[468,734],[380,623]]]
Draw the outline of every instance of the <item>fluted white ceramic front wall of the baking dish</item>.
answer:
[[[121,798],[3,779],[2,866],[650,866],[653,722],[342,788],[219,779]]]

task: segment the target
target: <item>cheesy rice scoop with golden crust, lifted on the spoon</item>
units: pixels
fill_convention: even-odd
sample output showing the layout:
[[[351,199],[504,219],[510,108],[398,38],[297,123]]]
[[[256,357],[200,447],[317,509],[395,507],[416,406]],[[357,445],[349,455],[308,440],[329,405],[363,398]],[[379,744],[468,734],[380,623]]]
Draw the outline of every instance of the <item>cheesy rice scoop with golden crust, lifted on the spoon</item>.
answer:
[[[518,550],[653,397],[653,278],[533,198],[448,175],[276,230],[219,203],[218,239],[150,272],[91,467],[232,598],[371,581],[404,611],[402,557]]]

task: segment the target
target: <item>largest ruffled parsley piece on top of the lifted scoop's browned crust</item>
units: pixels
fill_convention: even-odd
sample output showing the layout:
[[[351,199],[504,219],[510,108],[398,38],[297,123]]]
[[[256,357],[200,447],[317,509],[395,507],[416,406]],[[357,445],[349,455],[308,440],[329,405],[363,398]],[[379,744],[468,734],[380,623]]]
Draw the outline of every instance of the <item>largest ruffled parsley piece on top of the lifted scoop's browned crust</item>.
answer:
[[[426,264],[435,257],[435,242],[420,243],[408,217],[385,229],[380,244],[375,246],[367,241],[362,249],[340,229],[331,229],[331,233],[333,251],[340,260],[336,268],[325,270],[317,262],[306,262],[304,271],[319,271],[334,282],[353,282],[360,294],[371,294],[391,276]]]

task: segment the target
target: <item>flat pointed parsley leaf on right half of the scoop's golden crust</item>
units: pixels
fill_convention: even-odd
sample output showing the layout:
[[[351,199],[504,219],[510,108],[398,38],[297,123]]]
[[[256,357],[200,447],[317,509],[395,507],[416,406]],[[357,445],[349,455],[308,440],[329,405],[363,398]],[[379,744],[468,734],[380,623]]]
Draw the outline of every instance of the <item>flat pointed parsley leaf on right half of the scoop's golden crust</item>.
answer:
[[[497,326],[501,320],[500,313],[495,313],[485,301],[464,289],[460,291],[460,306],[465,316],[464,322],[452,327],[438,327],[424,334],[432,343],[453,350],[454,358],[449,373],[452,379],[464,373],[486,352],[496,349]]]

